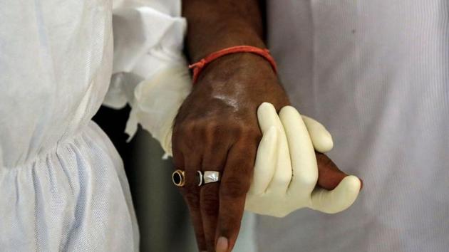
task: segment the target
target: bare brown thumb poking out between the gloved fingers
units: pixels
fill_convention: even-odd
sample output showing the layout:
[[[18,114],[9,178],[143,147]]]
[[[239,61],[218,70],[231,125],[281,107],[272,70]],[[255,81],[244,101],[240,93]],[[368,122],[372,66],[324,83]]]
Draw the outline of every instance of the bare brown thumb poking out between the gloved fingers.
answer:
[[[340,182],[348,176],[348,174],[342,172],[339,167],[332,162],[325,154],[315,152],[316,162],[318,164],[318,182],[319,187],[331,190],[336,188]],[[361,188],[363,187],[363,181],[360,179]],[[361,189],[360,188],[360,189]]]

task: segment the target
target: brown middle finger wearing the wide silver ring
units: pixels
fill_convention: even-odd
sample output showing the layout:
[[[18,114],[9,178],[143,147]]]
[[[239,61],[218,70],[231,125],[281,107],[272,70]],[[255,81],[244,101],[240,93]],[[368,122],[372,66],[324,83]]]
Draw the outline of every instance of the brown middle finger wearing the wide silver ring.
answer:
[[[207,140],[206,140],[207,141]],[[226,163],[229,146],[223,141],[213,142],[205,148],[202,159],[202,174],[206,171],[222,172]],[[215,251],[215,234],[220,206],[220,183],[203,184],[200,187],[202,227],[205,231],[207,251]]]

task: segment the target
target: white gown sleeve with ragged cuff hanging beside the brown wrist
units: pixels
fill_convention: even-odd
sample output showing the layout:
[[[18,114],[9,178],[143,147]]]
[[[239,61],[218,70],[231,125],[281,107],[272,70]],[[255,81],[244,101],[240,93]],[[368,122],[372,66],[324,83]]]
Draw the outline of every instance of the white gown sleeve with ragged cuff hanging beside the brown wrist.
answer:
[[[182,54],[185,31],[180,0],[114,2],[113,76],[103,105],[128,103],[128,140],[140,124],[167,154],[172,122],[192,86]]]

